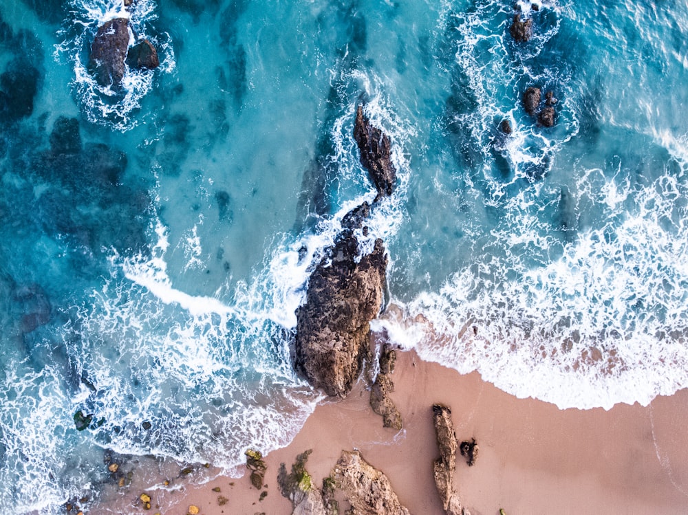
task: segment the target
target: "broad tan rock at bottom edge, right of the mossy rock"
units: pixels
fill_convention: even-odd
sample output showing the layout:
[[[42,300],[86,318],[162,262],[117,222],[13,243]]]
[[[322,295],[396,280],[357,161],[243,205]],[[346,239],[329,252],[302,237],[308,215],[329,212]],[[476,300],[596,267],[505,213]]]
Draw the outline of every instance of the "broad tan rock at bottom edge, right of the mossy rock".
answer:
[[[355,515],[409,515],[387,476],[367,463],[357,450],[342,452],[332,477]]]

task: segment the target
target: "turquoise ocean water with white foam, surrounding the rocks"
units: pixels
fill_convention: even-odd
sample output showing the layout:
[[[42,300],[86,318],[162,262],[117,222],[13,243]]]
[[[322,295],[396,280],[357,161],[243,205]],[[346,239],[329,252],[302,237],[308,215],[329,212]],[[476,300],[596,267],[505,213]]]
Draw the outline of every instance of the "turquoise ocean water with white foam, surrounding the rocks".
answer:
[[[376,330],[560,408],[688,386],[688,5],[518,6],[527,43],[497,0],[1,3],[0,505],[290,441],[322,398],[294,311],[375,197],[358,102],[399,175]],[[120,91],[87,66],[116,16],[161,62]]]

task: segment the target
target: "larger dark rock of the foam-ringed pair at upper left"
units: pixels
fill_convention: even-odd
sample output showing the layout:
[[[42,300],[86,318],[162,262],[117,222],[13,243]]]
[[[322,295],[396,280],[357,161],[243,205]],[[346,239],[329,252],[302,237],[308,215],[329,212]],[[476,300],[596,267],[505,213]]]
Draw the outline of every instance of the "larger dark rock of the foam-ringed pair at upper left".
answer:
[[[91,45],[90,64],[101,86],[118,86],[125,75],[129,47],[129,20],[114,18],[98,28]]]

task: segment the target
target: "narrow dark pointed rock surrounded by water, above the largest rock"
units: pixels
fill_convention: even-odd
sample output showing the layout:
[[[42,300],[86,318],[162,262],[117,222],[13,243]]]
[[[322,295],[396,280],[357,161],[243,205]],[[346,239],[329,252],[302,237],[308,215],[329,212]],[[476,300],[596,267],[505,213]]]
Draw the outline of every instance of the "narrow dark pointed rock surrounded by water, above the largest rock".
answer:
[[[391,142],[389,136],[373,127],[363,113],[362,105],[356,109],[354,139],[361,151],[361,164],[378,191],[375,200],[391,195],[396,184],[396,168],[391,162]]]

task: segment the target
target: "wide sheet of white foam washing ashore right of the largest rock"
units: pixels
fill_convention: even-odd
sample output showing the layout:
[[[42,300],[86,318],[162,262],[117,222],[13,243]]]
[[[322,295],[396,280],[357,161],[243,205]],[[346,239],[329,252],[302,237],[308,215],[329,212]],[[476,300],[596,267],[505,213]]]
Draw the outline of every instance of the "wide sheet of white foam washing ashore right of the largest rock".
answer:
[[[378,327],[425,360],[560,408],[645,405],[686,386],[686,186],[589,171],[579,190],[605,206],[599,226],[562,247],[515,201],[491,255]],[[555,247],[559,258],[533,261]]]

